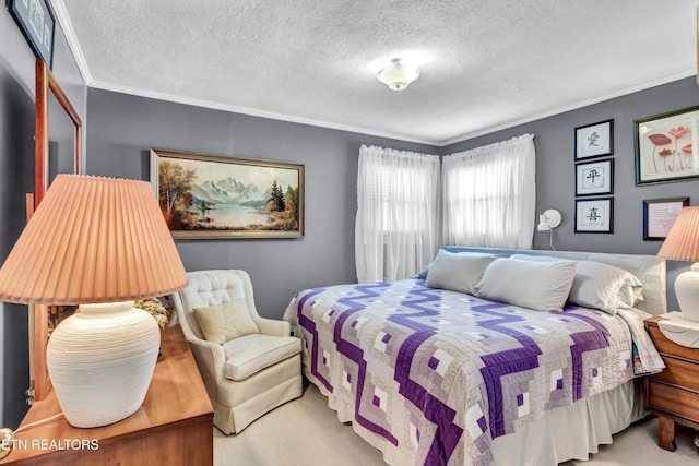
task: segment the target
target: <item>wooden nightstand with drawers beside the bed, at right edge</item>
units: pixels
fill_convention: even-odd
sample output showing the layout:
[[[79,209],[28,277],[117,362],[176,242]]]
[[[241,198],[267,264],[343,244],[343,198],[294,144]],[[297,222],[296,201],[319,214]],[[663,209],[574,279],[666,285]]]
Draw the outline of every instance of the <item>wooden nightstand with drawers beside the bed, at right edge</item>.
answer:
[[[661,320],[655,316],[644,321],[645,331],[666,366],[643,381],[644,407],[657,415],[657,444],[674,452],[675,423],[699,429],[699,348],[667,339],[657,326]]]

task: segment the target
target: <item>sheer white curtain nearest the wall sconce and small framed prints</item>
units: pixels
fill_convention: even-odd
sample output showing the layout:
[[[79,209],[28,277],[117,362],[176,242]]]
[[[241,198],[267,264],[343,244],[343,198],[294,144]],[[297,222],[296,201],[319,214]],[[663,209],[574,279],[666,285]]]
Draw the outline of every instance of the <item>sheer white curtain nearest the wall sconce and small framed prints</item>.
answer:
[[[445,156],[445,243],[531,249],[535,164],[533,134]]]

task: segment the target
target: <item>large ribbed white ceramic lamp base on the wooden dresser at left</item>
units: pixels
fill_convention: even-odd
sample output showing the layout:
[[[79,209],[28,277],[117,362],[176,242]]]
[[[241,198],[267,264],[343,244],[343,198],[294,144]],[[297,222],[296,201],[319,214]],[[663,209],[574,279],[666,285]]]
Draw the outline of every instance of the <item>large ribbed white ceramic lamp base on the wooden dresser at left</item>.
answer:
[[[133,301],[81,304],[48,342],[46,363],[68,422],[92,428],[139,409],[161,345],[155,319]]]

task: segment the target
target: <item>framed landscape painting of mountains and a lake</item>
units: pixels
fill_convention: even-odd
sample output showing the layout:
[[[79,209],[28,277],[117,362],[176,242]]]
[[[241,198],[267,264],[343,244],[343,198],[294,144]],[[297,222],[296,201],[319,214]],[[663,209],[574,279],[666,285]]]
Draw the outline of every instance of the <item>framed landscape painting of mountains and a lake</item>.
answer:
[[[304,166],[151,150],[151,184],[173,238],[304,236]]]

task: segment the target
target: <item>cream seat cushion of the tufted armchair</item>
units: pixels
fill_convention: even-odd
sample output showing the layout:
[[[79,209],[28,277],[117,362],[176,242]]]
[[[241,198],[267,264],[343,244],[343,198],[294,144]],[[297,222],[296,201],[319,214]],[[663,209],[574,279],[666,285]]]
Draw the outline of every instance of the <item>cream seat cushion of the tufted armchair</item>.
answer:
[[[241,381],[301,351],[293,336],[247,335],[223,345],[226,379]]]

